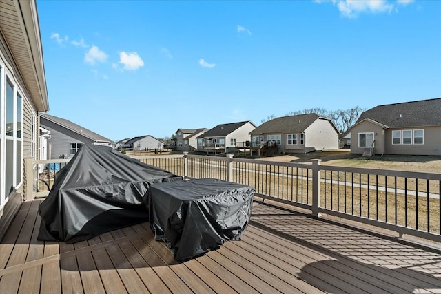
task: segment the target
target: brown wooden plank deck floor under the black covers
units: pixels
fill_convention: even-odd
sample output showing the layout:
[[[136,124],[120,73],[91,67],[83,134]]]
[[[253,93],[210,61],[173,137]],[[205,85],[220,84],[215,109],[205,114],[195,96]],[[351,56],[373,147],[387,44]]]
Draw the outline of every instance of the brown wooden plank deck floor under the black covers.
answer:
[[[40,242],[40,202],[23,203],[0,244],[0,293],[441,293],[441,250],[269,204],[255,202],[241,241],[176,263],[148,223]]]

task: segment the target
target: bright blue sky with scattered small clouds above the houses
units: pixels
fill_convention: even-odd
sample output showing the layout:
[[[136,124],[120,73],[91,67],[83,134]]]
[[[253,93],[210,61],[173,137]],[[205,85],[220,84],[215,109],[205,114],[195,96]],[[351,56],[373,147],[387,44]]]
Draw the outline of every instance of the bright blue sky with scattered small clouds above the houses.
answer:
[[[441,97],[441,1],[37,0],[50,112],[112,140]]]

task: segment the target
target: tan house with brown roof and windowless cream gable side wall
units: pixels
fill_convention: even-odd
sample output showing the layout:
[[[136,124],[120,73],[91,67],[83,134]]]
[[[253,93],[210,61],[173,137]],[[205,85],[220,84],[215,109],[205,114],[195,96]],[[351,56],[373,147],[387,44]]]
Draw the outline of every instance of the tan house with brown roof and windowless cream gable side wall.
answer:
[[[329,118],[314,113],[274,118],[249,134],[252,150],[263,155],[269,155],[269,149],[278,153],[338,149],[338,129]]]

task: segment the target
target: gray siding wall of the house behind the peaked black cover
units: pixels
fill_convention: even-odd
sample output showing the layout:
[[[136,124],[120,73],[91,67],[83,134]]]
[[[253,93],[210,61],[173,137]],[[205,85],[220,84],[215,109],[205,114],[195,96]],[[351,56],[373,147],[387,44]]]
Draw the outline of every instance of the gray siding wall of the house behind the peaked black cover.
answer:
[[[56,123],[45,120],[45,118],[41,118],[41,126],[50,131],[50,139],[48,139],[48,158],[50,159],[58,159],[59,156],[63,155],[72,158],[74,154],[70,154],[70,143],[94,143],[92,139],[85,138]]]

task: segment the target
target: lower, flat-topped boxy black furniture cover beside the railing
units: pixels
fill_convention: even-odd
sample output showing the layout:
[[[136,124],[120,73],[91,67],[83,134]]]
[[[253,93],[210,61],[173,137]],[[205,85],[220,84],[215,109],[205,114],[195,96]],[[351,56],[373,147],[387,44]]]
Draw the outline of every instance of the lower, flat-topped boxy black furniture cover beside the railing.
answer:
[[[253,187],[212,178],[165,182],[150,187],[150,227],[156,240],[185,261],[245,233]]]

